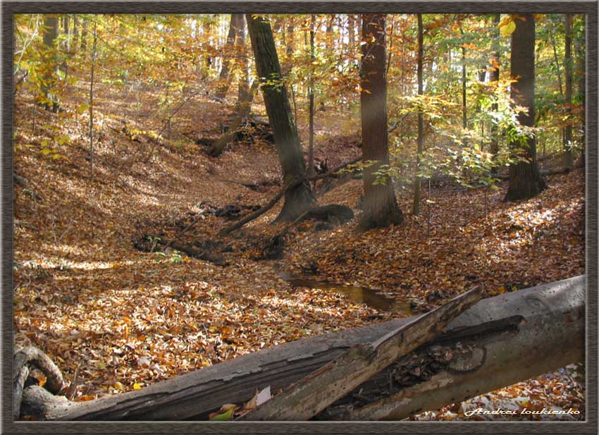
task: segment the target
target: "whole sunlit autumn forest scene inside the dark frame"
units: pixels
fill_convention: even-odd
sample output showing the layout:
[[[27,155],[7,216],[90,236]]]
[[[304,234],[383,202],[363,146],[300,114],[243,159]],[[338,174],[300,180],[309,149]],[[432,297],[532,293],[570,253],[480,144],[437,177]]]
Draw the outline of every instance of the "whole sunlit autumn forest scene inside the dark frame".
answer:
[[[586,419],[584,14],[13,23],[13,419]]]

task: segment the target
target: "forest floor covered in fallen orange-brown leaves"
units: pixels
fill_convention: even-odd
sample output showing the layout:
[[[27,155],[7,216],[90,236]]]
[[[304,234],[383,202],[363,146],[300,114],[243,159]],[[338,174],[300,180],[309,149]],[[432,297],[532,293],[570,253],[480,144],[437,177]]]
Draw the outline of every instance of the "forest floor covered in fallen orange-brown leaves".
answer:
[[[411,195],[398,190],[404,225],[360,234],[357,218],[325,231],[304,222],[285,236],[279,259],[259,258],[283,228],[268,224],[281,204],[214,243],[219,229],[280,189],[273,145],[237,144],[207,157],[194,140],[217,137],[230,107],[197,97],[171,123],[171,139],[161,140],[151,95],[136,103],[111,87],[97,94],[93,180],[89,118],[78,92],[59,114],[37,109],[35,132],[32,99],[19,94],[15,109],[14,167],[27,180],[15,186],[15,343],[44,350],[68,381],[79,367],[75,400],[423,312],[475,285],[490,296],[584,273],[581,169],[549,177],[550,188],[526,202],[502,202],[505,185],[488,192],[436,186],[421,216],[409,213]],[[330,110],[319,117],[327,129],[317,131],[316,155],[329,168],[360,154],[349,114]],[[298,124],[304,135],[304,121]],[[359,214],[361,193],[362,180],[350,180],[319,203],[345,204]],[[219,209],[234,219],[216,216]],[[158,239],[175,237],[218,251],[228,265],[161,248]],[[360,302],[369,300],[363,294],[294,287],[281,271],[365,287],[373,290],[362,290],[366,296],[390,303],[377,309]],[[569,366],[412,418],[476,419],[464,410],[509,403],[574,408],[581,411],[575,418],[584,419],[577,371]]]

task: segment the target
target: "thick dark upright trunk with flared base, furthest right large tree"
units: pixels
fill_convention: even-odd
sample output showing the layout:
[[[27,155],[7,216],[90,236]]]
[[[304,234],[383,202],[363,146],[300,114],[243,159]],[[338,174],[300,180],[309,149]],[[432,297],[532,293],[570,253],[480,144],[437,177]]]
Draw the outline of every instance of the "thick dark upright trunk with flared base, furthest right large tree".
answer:
[[[516,30],[512,33],[510,75],[517,81],[512,84],[511,97],[515,104],[529,108],[518,115],[518,121],[532,127],[535,119],[535,19],[532,13],[526,13],[514,20]],[[510,147],[512,154],[522,159],[510,164],[510,185],[505,200],[516,201],[538,195],[546,185],[538,170],[535,138],[529,137],[524,148],[520,142],[512,142]]]

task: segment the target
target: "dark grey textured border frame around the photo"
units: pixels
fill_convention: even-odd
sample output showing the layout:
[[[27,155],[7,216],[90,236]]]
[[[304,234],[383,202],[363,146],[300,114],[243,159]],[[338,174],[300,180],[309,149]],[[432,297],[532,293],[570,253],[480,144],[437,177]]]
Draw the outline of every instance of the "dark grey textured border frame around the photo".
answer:
[[[2,12],[2,434],[597,434],[597,1],[7,1]],[[13,422],[13,14],[15,13],[586,14],[586,420],[584,422]]]

